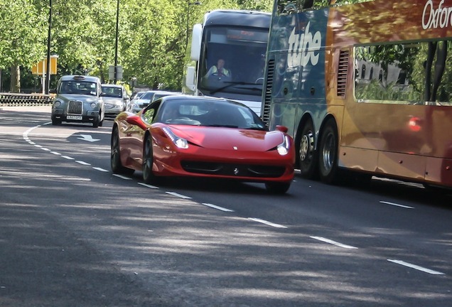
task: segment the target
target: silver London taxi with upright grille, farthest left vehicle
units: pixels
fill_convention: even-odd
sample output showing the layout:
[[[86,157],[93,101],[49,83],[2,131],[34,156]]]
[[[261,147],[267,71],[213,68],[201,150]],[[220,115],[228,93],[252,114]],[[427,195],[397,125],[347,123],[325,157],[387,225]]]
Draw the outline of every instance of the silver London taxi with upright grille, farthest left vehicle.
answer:
[[[104,122],[104,101],[98,77],[65,75],[58,80],[52,104],[52,124],[89,122],[97,128]]]

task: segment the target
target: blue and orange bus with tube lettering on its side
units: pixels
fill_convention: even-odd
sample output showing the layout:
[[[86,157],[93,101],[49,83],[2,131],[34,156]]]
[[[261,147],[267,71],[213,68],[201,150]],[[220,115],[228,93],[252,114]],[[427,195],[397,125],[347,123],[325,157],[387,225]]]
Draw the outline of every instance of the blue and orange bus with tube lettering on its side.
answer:
[[[452,187],[451,0],[276,0],[266,63],[262,117],[301,176]]]

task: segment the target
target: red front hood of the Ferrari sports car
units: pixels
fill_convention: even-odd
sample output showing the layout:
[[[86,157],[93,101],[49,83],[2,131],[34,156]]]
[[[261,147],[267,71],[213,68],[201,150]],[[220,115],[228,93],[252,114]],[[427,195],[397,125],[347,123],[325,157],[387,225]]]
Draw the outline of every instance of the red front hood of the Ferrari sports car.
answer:
[[[171,130],[190,143],[208,149],[239,151],[268,151],[284,140],[281,131],[260,131],[205,126],[172,126]]]

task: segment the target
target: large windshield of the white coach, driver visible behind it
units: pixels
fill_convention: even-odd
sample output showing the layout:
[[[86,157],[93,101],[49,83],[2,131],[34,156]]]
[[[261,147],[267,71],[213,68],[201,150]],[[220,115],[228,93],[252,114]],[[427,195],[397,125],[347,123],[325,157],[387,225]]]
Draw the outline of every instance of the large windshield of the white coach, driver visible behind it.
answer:
[[[217,26],[206,28],[203,39],[199,90],[204,95],[262,95],[268,31]]]

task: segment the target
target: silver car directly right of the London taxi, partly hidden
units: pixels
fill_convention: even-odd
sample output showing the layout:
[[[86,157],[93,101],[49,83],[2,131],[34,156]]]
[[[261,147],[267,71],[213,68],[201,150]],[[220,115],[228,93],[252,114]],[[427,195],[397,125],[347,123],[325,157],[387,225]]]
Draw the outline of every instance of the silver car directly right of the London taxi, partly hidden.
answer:
[[[102,98],[105,104],[105,117],[116,117],[126,110],[129,104],[129,94],[122,85],[102,85]]]

